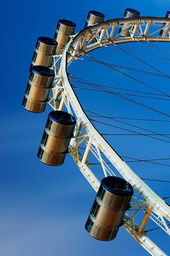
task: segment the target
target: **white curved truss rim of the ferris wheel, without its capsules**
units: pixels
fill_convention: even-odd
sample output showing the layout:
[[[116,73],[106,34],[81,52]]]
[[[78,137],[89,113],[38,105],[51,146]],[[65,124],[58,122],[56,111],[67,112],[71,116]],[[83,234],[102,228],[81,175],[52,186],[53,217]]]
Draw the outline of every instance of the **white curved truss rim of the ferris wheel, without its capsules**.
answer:
[[[67,110],[75,114],[77,117],[77,129],[75,130],[74,138],[70,144],[70,154],[78,165],[79,170],[84,177],[89,181],[90,185],[97,191],[100,185],[99,180],[91,171],[88,164],[88,157],[93,154],[101,164],[105,176],[115,175],[108,167],[100,153],[103,153],[106,158],[112,163],[114,168],[129,181],[134,190],[139,193],[143,199],[133,199],[134,205],[139,206],[139,210],[143,210],[143,219],[138,226],[134,221],[134,216],[129,217],[128,214],[124,218],[124,228],[141,244],[151,255],[161,256],[166,255],[159,247],[154,244],[144,233],[144,229],[148,219],[152,219],[167,235],[170,235],[167,221],[170,221],[170,207],[152,191],[145,182],[143,182],[137,174],[117,155],[115,150],[107,143],[107,141],[95,129],[89,118],[84,113],[81,104],[75,95],[74,90],[69,81],[67,67],[81,55],[84,55],[99,47],[116,45],[128,42],[170,42],[169,37],[160,37],[159,31],[162,28],[162,23],[169,22],[166,18],[156,17],[137,17],[129,19],[112,19],[107,20],[97,25],[87,27],[75,35],[66,45],[62,55],[58,54],[54,57],[54,66],[56,79],[52,96],[49,100],[49,105],[54,109],[62,110],[64,105]],[[120,37],[118,27],[121,24],[128,23],[129,37]],[[95,38],[95,43],[86,42],[86,37],[91,35]],[[86,143],[84,154],[80,154],[80,143]]]

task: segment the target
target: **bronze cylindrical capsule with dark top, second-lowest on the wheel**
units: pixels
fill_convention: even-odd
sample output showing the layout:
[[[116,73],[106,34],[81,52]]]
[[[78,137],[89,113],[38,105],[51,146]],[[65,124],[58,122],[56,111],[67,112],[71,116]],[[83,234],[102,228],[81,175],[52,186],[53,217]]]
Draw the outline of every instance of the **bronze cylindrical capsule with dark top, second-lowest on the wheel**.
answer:
[[[75,123],[74,116],[64,111],[49,113],[37,154],[41,162],[54,166],[64,163]]]

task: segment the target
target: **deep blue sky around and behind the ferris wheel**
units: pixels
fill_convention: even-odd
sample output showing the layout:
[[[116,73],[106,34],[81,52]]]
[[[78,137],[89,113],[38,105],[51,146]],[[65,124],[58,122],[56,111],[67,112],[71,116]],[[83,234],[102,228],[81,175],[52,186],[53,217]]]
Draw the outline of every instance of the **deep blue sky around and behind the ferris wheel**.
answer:
[[[89,10],[103,12],[105,19],[123,17],[124,10],[128,7],[140,11],[141,16],[165,17],[166,11],[169,11],[168,3],[168,0],[122,0],[121,2],[7,0],[2,3],[1,255],[149,255],[124,228],[120,228],[115,241],[112,242],[97,241],[87,234],[84,223],[94,201],[95,191],[79,172],[71,156],[67,156],[65,163],[60,167],[50,167],[38,161],[37,150],[48,112],[52,108],[47,107],[42,114],[33,114],[25,110],[21,104],[37,37],[53,37],[59,19],[74,21],[78,32],[84,27]],[[159,44],[159,50],[140,43],[139,46],[138,44],[124,46],[166,58],[150,59],[146,54],[143,54],[143,57],[141,53],[139,55],[142,60],[150,61],[152,66],[169,75],[169,57],[165,55],[165,53],[169,54],[169,44]],[[90,55],[115,65],[156,72],[122,51],[117,51],[113,46],[97,50]],[[73,63],[69,69],[70,73],[105,86],[156,93],[111,69],[89,61],[82,62],[79,60]],[[123,68],[121,71],[128,73]],[[139,73],[129,71],[128,74],[139,78]],[[145,74],[141,74],[140,79],[158,90],[170,93],[168,79]],[[74,85],[84,88],[81,84],[74,83]],[[125,93],[128,92],[125,91]],[[168,116],[154,113],[105,93],[79,90],[78,96],[84,109],[101,115],[170,120]],[[169,115],[168,100],[139,99],[133,96],[131,99]],[[169,134],[168,122],[123,121],[157,133]],[[94,124],[102,133],[128,133],[99,123],[94,122]],[[111,124],[135,130],[117,122],[111,122]],[[135,131],[147,133],[141,130]],[[170,141],[165,137],[159,138]],[[106,139],[121,156],[138,159],[169,157],[169,142],[130,135],[114,135]],[[127,158],[124,159],[127,160]],[[170,164],[168,160],[159,163]],[[169,166],[151,163],[130,163],[130,166],[142,178],[169,180]],[[148,185],[156,190],[160,197],[170,196],[168,183],[148,181]],[[151,223],[151,227],[157,226]],[[168,239],[162,230],[152,231],[150,237],[168,254]]]

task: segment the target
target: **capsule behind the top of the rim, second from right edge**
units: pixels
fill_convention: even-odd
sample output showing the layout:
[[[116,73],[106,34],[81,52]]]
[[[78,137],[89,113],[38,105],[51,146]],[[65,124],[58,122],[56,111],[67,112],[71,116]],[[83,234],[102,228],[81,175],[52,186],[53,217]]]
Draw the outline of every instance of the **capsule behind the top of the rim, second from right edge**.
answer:
[[[134,9],[127,8],[124,12],[123,18],[133,18],[139,17],[140,12]],[[121,36],[130,36],[129,30],[132,28],[131,23],[121,24],[121,28],[118,33],[121,33]]]

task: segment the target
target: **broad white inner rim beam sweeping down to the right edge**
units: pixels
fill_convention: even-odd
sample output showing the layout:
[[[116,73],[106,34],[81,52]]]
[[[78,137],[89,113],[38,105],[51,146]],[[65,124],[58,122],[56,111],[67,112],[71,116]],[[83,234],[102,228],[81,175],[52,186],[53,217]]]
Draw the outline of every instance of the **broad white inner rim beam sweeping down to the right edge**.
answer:
[[[68,47],[68,46],[67,46]],[[65,56],[64,56],[65,55]],[[137,174],[135,174],[130,167],[122,161],[122,159],[115,153],[113,148],[108,145],[106,140],[101,137],[95,127],[90,123],[88,117],[81,110],[81,105],[71,88],[69,79],[66,75],[66,51],[64,51],[62,64],[61,64],[61,74],[63,77],[63,86],[67,97],[69,98],[71,105],[77,115],[78,119],[81,119],[84,129],[91,138],[94,145],[96,145],[105,154],[109,161],[114,165],[114,167],[121,173],[125,180],[129,181],[133,188],[139,192],[140,195],[151,205],[153,205],[153,210],[158,215],[163,215],[167,220],[170,220],[170,209],[169,206],[163,201],[162,198],[157,196],[154,191],[152,191],[145,182],[143,182]]]

